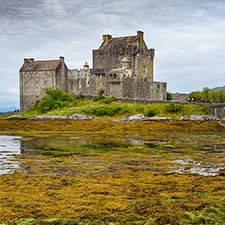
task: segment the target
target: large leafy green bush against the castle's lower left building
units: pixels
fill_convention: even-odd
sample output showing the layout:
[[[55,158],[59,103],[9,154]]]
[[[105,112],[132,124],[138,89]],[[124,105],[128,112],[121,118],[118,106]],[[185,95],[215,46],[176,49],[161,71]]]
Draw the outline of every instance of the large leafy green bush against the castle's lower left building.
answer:
[[[45,113],[53,109],[69,106],[74,100],[75,99],[71,94],[65,93],[59,88],[48,88],[46,90],[46,95],[35,104],[34,109],[41,113]]]

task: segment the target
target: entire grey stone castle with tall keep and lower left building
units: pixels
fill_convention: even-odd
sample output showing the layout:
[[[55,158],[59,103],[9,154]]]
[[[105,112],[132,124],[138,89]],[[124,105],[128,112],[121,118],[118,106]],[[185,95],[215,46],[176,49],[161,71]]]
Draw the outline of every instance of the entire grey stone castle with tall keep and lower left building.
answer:
[[[103,35],[93,50],[93,68],[68,69],[64,57],[36,61],[25,58],[20,69],[20,110],[30,109],[47,88],[84,96],[103,95],[118,99],[164,101],[166,83],[153,81],[154,49],[148,49],[144,33],[115,37]]]

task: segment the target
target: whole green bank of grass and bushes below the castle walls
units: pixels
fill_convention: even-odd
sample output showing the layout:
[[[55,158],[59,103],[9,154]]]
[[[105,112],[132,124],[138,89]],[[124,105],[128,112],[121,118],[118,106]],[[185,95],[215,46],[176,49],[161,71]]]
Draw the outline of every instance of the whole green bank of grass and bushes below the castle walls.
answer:
[[[47,89],[46,96],[41,99],[32,110],[21,113],[24,117],[32,117],[40,114],[48,116],[70,116],[75,113],[87,114],[90,116],[122,116],[145,114],[146,116],[169,116],[178,118],[181,115],[202,115],[208,114],[210,109],[195,104],[139,104],[124,103],[115,97],[82,99],[79,96],[72,96],[59,89]]]

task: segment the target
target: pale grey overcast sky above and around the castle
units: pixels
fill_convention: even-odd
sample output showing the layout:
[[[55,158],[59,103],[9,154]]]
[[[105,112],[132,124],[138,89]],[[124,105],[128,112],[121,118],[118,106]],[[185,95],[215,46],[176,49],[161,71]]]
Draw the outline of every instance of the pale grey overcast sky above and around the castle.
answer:
[[[102,34],[137,30],[168,91],[225,85],[225,0],[0,0],[0,108],[19,107],[23,58],[92,66]]]

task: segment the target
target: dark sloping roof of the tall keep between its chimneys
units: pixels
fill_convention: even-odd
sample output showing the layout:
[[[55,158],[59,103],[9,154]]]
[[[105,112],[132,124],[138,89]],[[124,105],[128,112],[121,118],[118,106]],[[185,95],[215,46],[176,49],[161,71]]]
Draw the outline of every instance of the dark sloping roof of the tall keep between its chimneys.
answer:
[[[134,44],[138,40],[138,36],[116,37],[111,38],[109,41],[105,41],[99,47],[99,50],[111,49],[118,46],[120,48],[126,48],[129,44]]]

